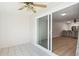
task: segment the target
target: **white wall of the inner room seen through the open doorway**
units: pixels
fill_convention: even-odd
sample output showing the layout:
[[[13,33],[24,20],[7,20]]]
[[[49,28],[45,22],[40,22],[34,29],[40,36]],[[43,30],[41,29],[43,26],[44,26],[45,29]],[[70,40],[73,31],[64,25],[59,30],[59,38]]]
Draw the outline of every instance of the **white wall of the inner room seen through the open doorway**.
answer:
[[[71,30],[72,26],[79,26],[79,22],[72,22],[68,25],[67,22],[53,22],[53,37],[58,37],[61,35],[63,30]]]

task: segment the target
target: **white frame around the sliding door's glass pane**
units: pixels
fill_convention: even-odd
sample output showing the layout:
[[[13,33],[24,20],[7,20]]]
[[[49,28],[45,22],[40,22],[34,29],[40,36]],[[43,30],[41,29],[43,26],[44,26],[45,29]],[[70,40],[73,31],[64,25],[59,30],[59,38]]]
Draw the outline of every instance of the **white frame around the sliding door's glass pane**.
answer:
[[[51,15],[51,17],[50,17],[50,21],[51,22],[49,22],[49,15]],[[41,17],[44,17],[44,16],[47,16],[47,18],[48,18],[48,44],[47,44],[47,46],[48,46],[48,49],[46,49],[46,48],[44,48],[43,46],[41,46],[41,45],[39,45],[38,44],[38,38],[37,38],[37,20],[39,19],[39,18],[41,18]],[[49,30],[49,23],[51,23],[51,29]],[[50,31],[50,32],[49,32]],[[50,36],[49,36],[50,35]],[[50,38],[50,39],[49,39]],[[49,42],[50,41],[50,42]],[[50,52],[52,52],[52,13],[48,13],[48,14],[44,14],[44,15],[41,15],[41,16],[38,16],[38,17],[35,17],[35,41],[34,41],[34,44],[36,45],[36,46],[38,46],[38,47],[40,47],[41,49],[43,49],[43,50],[46,50],[46,51],[50,51]],[[49,46],[50,45],[50,46]],[[50,50],[49,50],[50,49]]]

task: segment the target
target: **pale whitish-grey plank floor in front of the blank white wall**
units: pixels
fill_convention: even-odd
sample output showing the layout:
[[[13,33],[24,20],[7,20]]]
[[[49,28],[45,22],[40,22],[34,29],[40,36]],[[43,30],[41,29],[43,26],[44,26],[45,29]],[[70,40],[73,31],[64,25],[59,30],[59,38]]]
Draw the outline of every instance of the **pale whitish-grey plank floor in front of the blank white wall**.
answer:
[[[31,45],[22,44],[0,49],[0,56],[39,56]]]

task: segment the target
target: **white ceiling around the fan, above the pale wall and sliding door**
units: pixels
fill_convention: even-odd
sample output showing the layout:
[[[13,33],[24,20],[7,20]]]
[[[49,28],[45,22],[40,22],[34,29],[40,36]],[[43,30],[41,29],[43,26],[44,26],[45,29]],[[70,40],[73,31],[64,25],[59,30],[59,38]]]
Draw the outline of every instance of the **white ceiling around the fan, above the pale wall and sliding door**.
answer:
[[[38,2],[39,3],[39,2]],[[70,5],[75,4],[74,2],[40,2],[41,4],[46,4],[47,8],[40,8],[40,9],[36,9],[37,13],[35,14],[35,16],[40,16],[42,14],[51,12],[51,11],[57,11],[60,10],[62,8],[68,7]],[[0,13],[5,13],[5,11],[7,12],[18,12],[18,13],[23,13],[26,15],[31,14],[32,12],[30,10],[18,10],[20,7],[22,7],[22,4],[20,2],[0,2]],[[13,10],[13,11],[12,11]],[[5,13],[6,14],[6,13]],[[32,14],[33,16],[34,14]]]

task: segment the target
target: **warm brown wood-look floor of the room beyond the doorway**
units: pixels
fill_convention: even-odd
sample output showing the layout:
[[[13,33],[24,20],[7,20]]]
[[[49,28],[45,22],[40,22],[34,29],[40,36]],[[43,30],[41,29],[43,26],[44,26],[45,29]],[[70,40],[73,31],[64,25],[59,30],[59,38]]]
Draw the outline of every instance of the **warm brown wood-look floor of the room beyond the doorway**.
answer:
[[[53,40],[53,52],[60,56],[74,56],[77,39],[71,37],[57,37]]]

